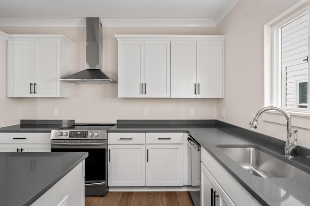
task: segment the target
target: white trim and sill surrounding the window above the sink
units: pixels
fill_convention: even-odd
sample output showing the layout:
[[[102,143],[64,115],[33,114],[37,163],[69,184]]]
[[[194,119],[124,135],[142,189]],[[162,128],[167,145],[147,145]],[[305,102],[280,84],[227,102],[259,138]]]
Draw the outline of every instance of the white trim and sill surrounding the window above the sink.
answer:
[[[281,71],[278,69],[280,60],[279,50],[279,27],[283,26],[283,22],[289,22],[294,18],[301,16],[310,11],[310,0],[300,0],[291,8],[277,16],[264,25],[264,105],[265,106],[279,106],[281,97],[279,95],[281,82]],[[310,15],[310,12],[309,12]],[[309,21],[310,22],[310,21]],[[309,27],[310,28],[310,27]],[[278,38],[275,38],[278,37]],[[310,41],[310,38],[309,38]],[[310,46],[310,44],[308,43]],[[277,60],[274,60],[277,59]],[[309,62],[310,63],[310,62]],[[276,68],[276,69],[275,69]],[[308,81],[310,81],[310,72],[308,72]],[[277,84],[274,84],[277,83]],[[310,129],[310,95],[308,95],[308,107],[305,108],[287,108],[286,110],[292,118],[293,126]],[[268,111],[263,114],[264,121],[270,121],[280,124],[286,124],[286,120],[282,118],[278,112]]]

